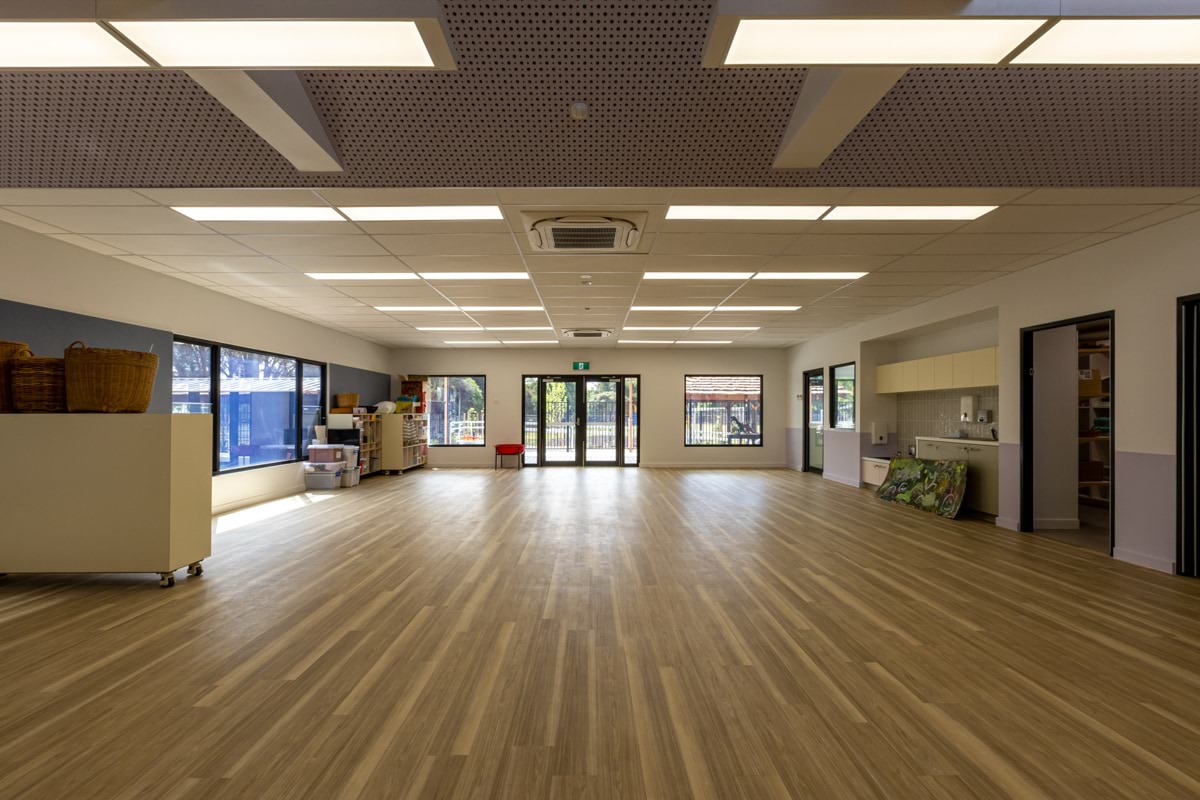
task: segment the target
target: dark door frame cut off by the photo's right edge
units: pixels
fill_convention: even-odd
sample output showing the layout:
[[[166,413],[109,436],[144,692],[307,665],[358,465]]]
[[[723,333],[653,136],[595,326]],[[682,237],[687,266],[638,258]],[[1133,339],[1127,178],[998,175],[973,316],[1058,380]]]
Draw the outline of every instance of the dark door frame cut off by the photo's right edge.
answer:
[[[1176,369],[1175,571],[1200,578],[1200,294],[1180,297]]]

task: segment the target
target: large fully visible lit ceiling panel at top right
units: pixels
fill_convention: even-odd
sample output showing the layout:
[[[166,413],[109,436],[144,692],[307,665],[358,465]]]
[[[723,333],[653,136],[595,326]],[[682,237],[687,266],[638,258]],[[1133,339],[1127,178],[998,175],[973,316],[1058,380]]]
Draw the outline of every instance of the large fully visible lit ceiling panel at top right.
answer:
[[[726,65],[1000,64],[1045,19],[742,19]]]

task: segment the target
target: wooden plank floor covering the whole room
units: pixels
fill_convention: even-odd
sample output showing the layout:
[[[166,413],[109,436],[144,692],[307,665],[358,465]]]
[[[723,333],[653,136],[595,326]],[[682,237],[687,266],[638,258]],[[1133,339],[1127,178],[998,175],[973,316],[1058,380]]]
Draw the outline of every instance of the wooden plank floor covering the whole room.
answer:
[[[1200,796],[1200,582],[782,470],[292,505],[0,581],[0,798]]]

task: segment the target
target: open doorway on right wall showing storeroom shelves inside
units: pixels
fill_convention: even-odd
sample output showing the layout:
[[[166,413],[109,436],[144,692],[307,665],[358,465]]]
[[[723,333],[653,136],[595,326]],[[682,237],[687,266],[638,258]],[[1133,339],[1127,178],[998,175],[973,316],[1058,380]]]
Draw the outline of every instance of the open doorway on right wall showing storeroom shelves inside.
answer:
[[[1112,554],[1114,314],[1021,331],[1021,530]]]

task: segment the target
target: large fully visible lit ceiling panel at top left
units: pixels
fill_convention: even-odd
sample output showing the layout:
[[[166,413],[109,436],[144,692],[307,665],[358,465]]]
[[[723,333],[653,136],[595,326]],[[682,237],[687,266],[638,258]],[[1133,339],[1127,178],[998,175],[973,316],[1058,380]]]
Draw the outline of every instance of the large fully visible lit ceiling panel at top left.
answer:
[[[412,20],[186,19],[112,22],[164,67],[433,66]]]

